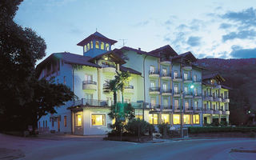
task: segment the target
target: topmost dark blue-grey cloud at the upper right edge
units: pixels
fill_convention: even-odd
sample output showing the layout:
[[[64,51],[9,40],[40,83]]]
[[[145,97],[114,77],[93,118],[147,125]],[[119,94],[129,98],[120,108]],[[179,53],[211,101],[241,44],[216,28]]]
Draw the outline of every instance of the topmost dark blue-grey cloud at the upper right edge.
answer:
[[[256,10],[253,7],[239,12],[227,12],[226,14],[221,15],[221,18],[228,19],[232,22],[238,22],[245,27],[256,26]]]

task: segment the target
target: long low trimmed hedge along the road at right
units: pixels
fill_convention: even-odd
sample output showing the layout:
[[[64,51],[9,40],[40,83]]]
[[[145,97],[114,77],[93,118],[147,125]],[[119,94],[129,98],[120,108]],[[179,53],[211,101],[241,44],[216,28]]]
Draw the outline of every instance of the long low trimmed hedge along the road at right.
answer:
[[[199,133],[219,133],[219,132],[242,132],[250,133],[256,132],[256,127],[246,127],[246,126],[191,126],[188,127],[190,134],[199,134]]]

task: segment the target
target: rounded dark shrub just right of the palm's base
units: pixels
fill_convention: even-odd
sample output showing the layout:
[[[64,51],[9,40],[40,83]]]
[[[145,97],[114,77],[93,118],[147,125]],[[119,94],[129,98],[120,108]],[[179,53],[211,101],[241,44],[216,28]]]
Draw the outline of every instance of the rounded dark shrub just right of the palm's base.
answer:
[[[140,120],[139,118],[133,119],[125,126],[126,131],[133,135],[145,135],[150,130],[150,123]],[[139,134],[138,134],[139,132]]]

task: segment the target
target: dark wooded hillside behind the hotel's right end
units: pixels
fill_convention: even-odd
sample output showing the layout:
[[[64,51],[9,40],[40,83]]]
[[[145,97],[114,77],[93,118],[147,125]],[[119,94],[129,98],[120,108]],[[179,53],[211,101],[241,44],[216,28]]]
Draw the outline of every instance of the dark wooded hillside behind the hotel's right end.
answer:
[[[256,110],[256,58],[220,59],[202,58],[197,64],[209,72],[218,72],[226,79],[224,85],[230,86],[230,122],[247,123],[248,110]]]

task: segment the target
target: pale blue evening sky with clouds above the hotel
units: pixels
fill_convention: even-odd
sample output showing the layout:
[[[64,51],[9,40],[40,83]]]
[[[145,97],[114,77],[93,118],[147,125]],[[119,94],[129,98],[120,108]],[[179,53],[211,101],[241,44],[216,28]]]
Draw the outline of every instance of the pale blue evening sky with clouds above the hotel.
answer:
[[[76,44],[98,29],[125,46],[169,44],[197,58],[256,58],[256,0],[24,0],[15,22],[46,40],[47,56],[82,54]]]

